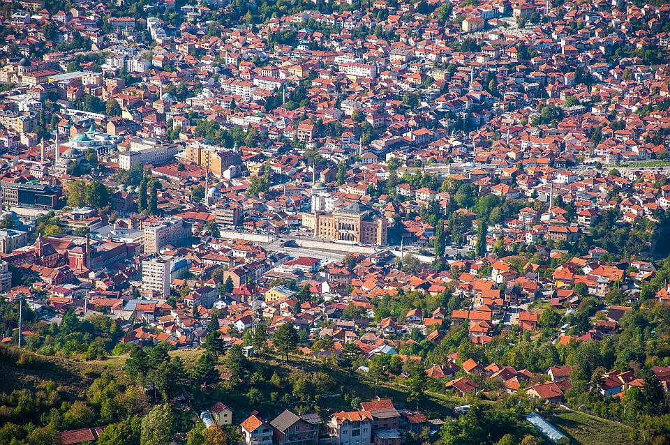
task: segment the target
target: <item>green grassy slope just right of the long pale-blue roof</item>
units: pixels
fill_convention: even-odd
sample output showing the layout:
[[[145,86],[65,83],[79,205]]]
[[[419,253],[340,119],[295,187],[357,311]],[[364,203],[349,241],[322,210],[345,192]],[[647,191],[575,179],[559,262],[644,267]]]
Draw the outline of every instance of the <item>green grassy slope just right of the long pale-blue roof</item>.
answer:
[[[547,418],[570,439],[571,444],[630,445],[632,428],[621,423],[591,416],[576,411],[556,412],[556,417]]]

